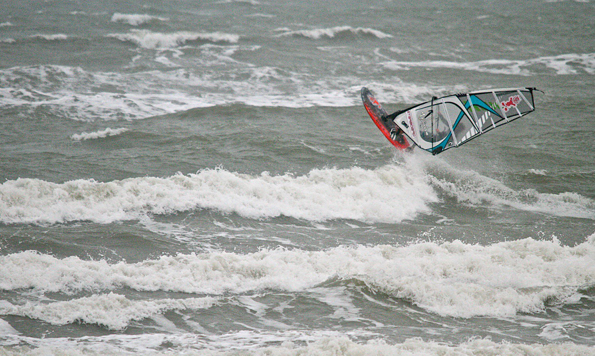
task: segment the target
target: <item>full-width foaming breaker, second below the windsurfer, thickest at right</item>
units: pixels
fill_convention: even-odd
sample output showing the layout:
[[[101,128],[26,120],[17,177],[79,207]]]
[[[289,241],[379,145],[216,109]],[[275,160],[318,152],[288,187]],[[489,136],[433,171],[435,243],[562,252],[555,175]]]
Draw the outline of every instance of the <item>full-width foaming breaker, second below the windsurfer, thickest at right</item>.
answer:
[[[572,302],[595,286],[595,238],[577,246],[531,238],[481,246],[460,241],[410,246],[339,246],[326,251],[262,249],[162,256],[139,263],[55,258],[33,251],[0,257],[0,289],[41,292],[245,293],[306,291],[329,279],[358,279],[441,316],[510,317],[547,302]]]

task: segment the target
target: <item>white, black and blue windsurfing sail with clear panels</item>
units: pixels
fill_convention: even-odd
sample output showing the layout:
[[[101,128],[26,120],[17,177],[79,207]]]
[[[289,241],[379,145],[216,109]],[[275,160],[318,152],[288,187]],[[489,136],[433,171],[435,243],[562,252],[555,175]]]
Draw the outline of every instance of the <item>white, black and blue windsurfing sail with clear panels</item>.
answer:
[[[531,113],[534,90],[490,89],[434,97],[401,111],[393,123],[415,145],[436,155]]]

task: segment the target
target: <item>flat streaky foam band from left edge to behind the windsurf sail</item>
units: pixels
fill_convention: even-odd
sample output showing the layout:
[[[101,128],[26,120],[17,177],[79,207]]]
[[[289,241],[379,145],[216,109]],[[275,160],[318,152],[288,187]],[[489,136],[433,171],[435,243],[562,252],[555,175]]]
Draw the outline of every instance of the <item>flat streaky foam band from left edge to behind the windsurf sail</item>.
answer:
[[[213,61],[217,63],[218,68],[218,65],[237,65],[230,52],[255,49],[209,43],[201,45],[201,50],[208,55],[211,64]],[[165,59],[171,65],[173,59],[164,56],[156,58]],[[208,65],[205,63],[205,67]],[[220,73],[208,70],[204,73],[177,69],[121,74],[58,65],[7,68],[0,70],[0,108],[26,105],[35,111],[42,106],[43,110],[60,117],[92,121],[131,120],[230,103],[292,108],[361,104],[358,92],[362,83],[359,79],[318,78],[312,85],[308,74],[284,73],[274,67],[249,66],[231,73],[234,73],[233,77],[249,80],[221,79]],[[461,86],[448,90],[419,86],[398,79],[391,84],[365,84],[383,102],[416,102],[432,95],[465,90]],[[107,89],[98,90],[101,88]],[[197,92],[201,95],[196,95]]]

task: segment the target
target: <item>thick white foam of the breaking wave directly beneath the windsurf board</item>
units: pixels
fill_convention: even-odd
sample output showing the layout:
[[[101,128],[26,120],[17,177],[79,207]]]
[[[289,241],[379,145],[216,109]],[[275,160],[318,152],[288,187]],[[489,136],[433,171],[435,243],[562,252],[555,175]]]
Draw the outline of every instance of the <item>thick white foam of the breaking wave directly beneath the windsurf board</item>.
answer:
[[[108,132],[88,135],[104,134]],[[517,191],[473,170],[414,155],[399,166],[374,170],[314,169],[303,176],[205,169],[185,176],[136,177],[113,182],[8,180],[0,185],[0,221],[111,223],[206,208],[249,218],[287,216],[309,221],[398,223],[420,213],[431,213],[430,204],[439,201],[439,194],[472,206],[508,206],[595,220],[595,201],[578,193]]]

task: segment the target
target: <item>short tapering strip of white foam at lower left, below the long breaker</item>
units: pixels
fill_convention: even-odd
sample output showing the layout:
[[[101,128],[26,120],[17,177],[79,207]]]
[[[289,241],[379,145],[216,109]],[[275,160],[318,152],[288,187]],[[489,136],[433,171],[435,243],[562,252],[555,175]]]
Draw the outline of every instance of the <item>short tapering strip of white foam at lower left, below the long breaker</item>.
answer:
[[[81,322],[120,330],[133,320],[154,317],[170,310],[210,308],[216,302],[217,299],[211,297],[132,301],[124,295],[110,292],[49,304],[27,302],[14,305],[0,301],[0,314],[39,319],[54,325]]]

